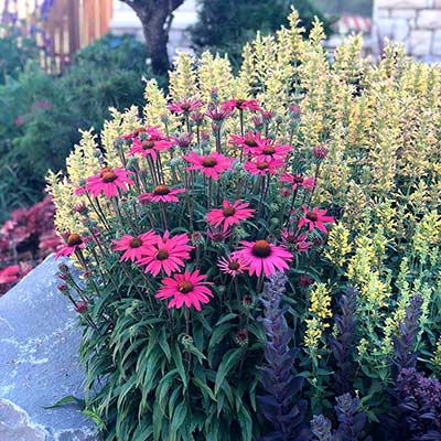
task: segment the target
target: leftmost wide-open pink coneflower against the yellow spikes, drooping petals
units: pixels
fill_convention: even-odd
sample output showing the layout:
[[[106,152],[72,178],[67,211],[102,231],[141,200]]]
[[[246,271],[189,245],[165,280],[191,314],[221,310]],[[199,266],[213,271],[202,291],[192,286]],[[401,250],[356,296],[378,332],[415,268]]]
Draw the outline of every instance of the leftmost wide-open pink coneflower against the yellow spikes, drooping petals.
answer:
[[[133,185],[129,178],[129,172],[125,169],[110,169],[105,166],[98,175],[87,178],[86,189],[95,197],[104,193],[107,197],[118,196],[118,189],[128,190],[127,185]],[[77,189],[78,191],[80,189]]]

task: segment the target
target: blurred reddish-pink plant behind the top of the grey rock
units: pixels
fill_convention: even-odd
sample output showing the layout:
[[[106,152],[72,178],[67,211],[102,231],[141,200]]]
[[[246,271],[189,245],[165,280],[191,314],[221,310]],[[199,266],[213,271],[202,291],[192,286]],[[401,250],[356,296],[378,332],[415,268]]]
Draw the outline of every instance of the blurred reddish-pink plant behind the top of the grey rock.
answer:
[[[0,227],[0,295],[60,245],[54,205],[46,197],[31,208],[19,208]]]

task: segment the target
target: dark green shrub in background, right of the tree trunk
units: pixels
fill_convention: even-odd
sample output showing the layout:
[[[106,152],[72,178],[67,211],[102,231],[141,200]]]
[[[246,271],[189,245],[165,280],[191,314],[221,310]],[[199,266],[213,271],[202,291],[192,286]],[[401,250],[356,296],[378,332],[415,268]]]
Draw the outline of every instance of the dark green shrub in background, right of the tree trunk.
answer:
[[[239,67],[244,44],[256,33],[273,33],[288,24],[290,8],[300,15],[300,25],[309,33],[314,17],[325,23],[326,34],[331,33],[331,21],[310,0],[201,0],[197,23],[191,28],[192,43],[197,51],[209,50],[220,55],[228,54],[233,65]]]

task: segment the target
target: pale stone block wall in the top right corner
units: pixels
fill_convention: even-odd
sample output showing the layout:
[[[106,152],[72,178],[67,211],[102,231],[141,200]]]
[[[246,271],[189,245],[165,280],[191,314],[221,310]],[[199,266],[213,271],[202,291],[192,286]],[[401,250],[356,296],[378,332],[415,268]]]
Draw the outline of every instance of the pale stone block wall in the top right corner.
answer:
[[[441,62],[441,0],[374,0],[373,36],[376,52],[387,37],[418,60]]]

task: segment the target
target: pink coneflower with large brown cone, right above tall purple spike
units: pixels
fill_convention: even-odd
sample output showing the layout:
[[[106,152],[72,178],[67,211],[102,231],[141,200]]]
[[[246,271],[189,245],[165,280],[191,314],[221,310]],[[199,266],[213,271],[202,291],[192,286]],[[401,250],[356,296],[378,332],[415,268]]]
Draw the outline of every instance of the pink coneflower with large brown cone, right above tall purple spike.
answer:
[[[276,246],[267,240],[239,243],[240,248],[234,252],[234,257],[240,257],[248,265],[248,272],[260,276],[262,272],[269,277],[276,271],[289,268],[288,262],[292,260],[291,252],[284,247]]]

